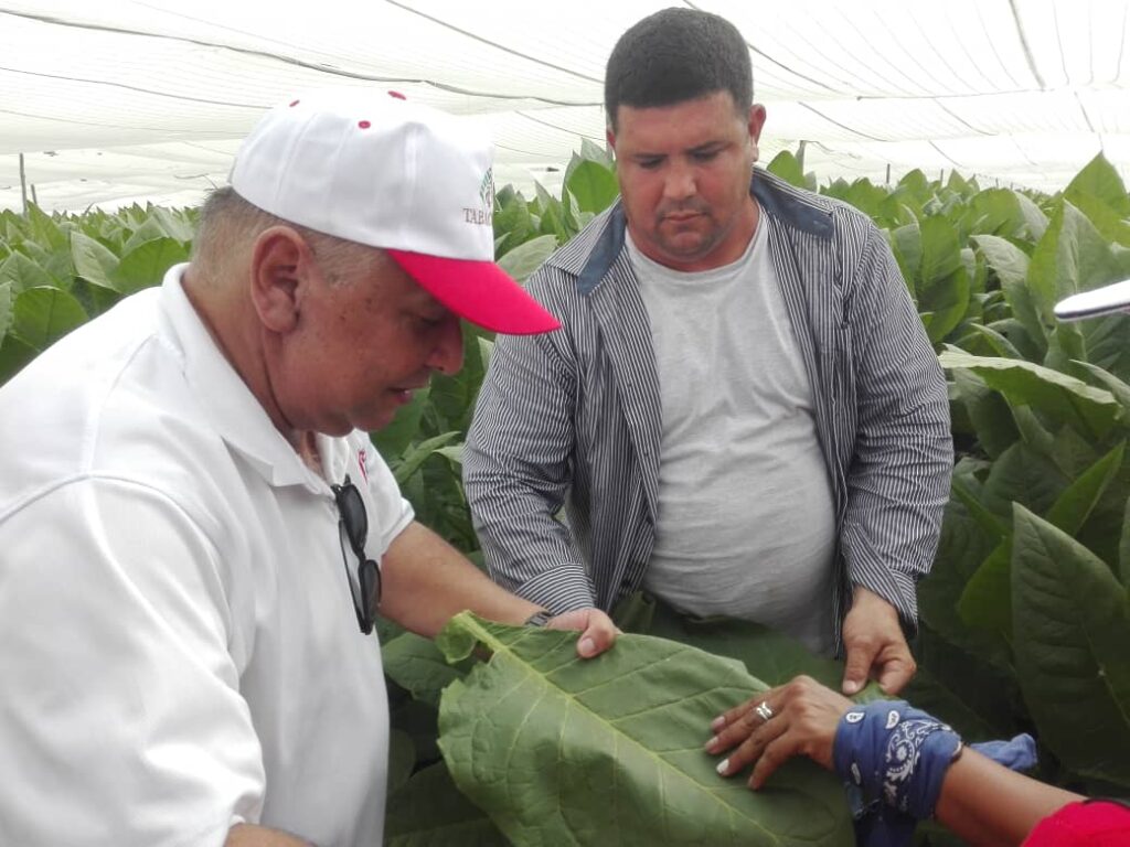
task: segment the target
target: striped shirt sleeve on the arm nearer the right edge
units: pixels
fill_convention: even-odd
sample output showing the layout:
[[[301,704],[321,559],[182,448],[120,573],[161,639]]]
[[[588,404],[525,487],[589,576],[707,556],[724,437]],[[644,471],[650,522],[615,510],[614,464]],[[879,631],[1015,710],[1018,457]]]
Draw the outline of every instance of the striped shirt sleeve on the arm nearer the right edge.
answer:
[[[949,496],[953,438],[938,357],[881,233],[864,227],[845,269],[858,425],[841,549],[852,583],[916,622],[915,584],[929,573]]]

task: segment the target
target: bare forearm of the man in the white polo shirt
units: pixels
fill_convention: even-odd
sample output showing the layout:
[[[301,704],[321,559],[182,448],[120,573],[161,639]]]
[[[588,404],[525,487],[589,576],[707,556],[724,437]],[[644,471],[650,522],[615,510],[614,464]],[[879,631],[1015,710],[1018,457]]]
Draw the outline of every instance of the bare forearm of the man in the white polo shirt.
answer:
[[[463,609],[503,623],[521,623],[538,610],[495,585],[447,542],[415,523],[385,553],[382,584],[381,614],[429,638]]]

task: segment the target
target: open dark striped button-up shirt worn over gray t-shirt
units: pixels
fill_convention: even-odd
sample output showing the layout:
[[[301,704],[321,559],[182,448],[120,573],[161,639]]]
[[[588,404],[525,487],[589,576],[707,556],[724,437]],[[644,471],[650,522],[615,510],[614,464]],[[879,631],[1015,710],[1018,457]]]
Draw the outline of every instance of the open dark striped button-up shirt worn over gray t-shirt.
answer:
[[[852,585],[913,628],[953,469],[937,356],[867,216],[760,169],[751,193],[832,482],[837,648]],[[659,378],[624,233],[616,203],[530,278],[562,329],[498,337],[463,453],[492,577],[555,612],[611,610],[643,583],[655,540]]]

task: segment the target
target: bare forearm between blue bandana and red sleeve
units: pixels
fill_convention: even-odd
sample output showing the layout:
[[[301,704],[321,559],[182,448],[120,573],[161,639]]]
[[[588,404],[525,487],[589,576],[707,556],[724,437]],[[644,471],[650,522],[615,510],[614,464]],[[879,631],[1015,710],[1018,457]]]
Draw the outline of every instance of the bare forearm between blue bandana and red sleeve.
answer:
[[[1041,819],[1077,800],[1083,797],[965,749],[946,774],[935,814],[973,847],[1010,847]]]

